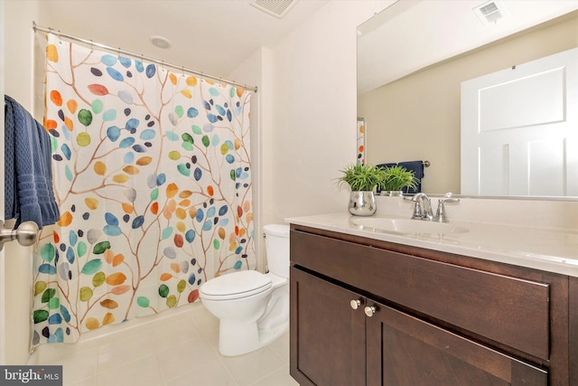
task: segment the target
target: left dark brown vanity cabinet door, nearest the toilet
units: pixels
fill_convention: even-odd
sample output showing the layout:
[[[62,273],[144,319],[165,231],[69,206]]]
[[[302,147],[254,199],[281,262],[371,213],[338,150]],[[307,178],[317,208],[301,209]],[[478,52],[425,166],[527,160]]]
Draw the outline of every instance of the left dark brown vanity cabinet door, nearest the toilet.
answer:
[[[302,386],[365,385],[364,299],[296,268],[290,280],[291,375]]]

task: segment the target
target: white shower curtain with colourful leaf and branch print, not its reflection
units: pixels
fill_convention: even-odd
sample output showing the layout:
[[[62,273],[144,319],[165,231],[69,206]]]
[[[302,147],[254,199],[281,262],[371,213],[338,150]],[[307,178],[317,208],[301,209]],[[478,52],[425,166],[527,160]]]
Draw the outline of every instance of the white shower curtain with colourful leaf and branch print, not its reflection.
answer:
[[[255,268],[249,92],[50,33],[45,74],[61,218],[35,249],[33,345]]]

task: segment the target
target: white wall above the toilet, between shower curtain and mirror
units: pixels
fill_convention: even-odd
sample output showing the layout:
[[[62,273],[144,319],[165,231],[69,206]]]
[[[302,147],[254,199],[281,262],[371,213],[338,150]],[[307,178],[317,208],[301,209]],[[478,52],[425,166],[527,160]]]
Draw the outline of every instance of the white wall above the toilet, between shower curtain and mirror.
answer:
[[[334,179],[356,162],[357,25],[379,1],[332,1],[273,49],[263,122],[263,221],[347,208]]]

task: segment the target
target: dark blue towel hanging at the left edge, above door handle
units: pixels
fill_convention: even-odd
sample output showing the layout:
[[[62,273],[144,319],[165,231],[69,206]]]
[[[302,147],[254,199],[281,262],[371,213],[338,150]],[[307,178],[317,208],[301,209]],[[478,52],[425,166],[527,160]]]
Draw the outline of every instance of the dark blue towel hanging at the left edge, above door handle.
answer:
[[[34,221],[39,229],[58,221],[52,190],[51,140],[25,108],[5,96],[5,219]]]

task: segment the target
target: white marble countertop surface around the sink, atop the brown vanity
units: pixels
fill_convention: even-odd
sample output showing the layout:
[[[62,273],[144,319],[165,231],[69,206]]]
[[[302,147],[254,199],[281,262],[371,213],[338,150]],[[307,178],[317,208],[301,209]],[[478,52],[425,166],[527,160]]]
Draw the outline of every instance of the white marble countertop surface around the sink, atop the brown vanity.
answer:
[[[402,219],[387,214],[377,217]],[[463,227],[468,231],[443,235],[400,234],[358,225],[353,222],[355,219],[359,217],[340,212],[293,217],[285,221],[325,231],[435,249],[578,278],[578,231],[450,221],[453,226]]]

